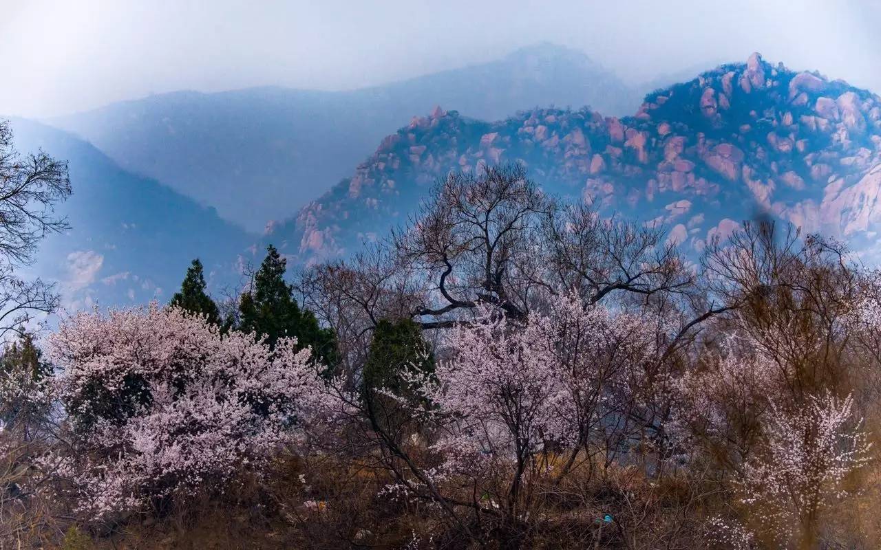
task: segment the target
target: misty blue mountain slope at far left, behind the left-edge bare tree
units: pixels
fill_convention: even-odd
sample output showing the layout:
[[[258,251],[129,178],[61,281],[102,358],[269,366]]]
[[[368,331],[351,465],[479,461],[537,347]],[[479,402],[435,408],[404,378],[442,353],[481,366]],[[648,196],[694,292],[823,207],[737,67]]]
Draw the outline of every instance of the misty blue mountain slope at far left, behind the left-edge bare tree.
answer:
[[[212,288],[237,284],[237,254],[254,238],[174,190],[125,172],[76,136],[11,120],[20,152],[42,148],[69,163],[73,194],[58,211],[70,231],[50,235],[27,275],[58,282],[75,309],[167,301],[198,256]]]

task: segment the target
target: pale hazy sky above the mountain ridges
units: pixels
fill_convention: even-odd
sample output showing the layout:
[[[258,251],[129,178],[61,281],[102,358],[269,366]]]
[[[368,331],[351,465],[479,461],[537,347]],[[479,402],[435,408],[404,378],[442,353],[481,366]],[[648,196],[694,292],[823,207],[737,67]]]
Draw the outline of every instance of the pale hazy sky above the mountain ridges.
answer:
[[[344,89],[550,40],[629,81],[753,50],[881,92],[881,2],[0,0],[0,114],[150,93]]]

